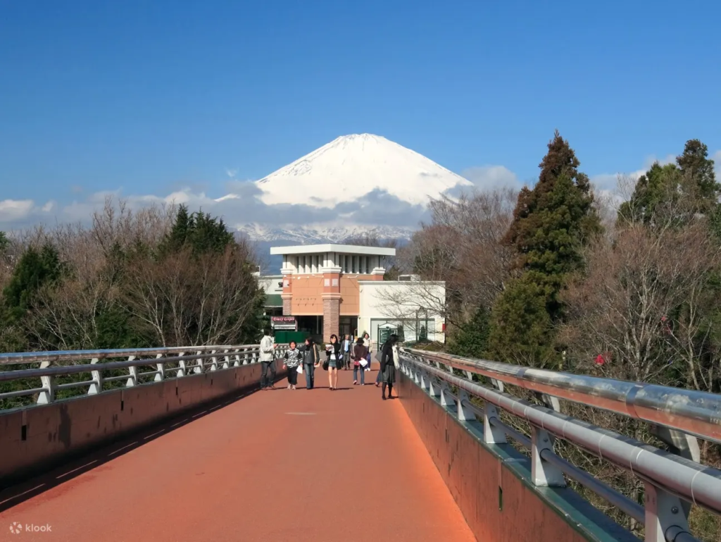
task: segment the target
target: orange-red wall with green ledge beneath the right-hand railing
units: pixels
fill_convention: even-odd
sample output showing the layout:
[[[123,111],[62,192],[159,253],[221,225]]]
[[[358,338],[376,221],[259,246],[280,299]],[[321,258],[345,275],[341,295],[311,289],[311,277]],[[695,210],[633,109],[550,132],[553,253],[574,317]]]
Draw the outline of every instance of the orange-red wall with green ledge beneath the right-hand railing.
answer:
[[[459,421],[409,377],[399,397],[478,541],[638,541],[571,489],[537,488],[511,445],[487,445],[480,421]]]

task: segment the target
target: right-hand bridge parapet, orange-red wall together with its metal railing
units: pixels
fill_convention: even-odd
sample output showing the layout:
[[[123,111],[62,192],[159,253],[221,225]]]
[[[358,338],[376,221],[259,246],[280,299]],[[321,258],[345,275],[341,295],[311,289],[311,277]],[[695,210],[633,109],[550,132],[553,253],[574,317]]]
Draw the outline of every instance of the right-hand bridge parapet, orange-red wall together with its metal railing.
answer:
[[[699,463],[696,442],[696,437],[721,441],[721,395],[416,349],[402,349],[401,362],[399,396],[479,540],[637,540],[581,503],[567,478],[644,525],[646,541],[696,540],[688,522],[691,504],[721,514],[721,471]],[[490,385],[474,381],[474,375],[487,377]],[[504,384],[528,390],[528,398],[541,404],[506,393]],[[682,457],[562,414],[561,401],[648,422],[653,434]],[[528,434],[505,423],[502,412],[516,427],[527,424]],[[643,484],[645,502],[629,499],[562,458],[554,450],[556,439],[632,473]],[[497,490],[488,478],[497,481]],[[495,491],[498,510],[489,506]],[[503,514],[503,495],[509,493],[505,507],[518,517]],[[547,510],[556,512],[553,520]],[[523,524],[526,538],[520,530],[509,536],[514,522]]]

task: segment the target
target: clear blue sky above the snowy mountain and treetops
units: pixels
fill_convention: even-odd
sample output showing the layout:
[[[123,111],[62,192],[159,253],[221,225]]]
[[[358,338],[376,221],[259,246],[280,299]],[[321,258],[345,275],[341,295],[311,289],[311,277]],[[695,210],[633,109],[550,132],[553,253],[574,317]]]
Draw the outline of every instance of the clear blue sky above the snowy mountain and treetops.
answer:
[[[720,151],[721,4],[545,4],[0,0],[0,215],[218,197],[363,132],[522,182],[554,128],[601,182]]]

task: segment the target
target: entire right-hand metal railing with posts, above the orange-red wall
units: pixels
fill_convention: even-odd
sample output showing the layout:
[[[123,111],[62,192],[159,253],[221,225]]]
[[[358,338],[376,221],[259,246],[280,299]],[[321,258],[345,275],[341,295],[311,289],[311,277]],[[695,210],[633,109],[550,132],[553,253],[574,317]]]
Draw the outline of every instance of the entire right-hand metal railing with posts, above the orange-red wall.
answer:
[[[721,395],[407,348],[401,349],[401,364],[405,375],[439,398],[441,405],[451,407],[459,420],[481,421],[487,444],[505,444],[510,437],[528,450],[535,486],[564,487],[566,477],[570,478],[645,525],[646,541],[695,541],[688,523],[691,504],[721,514],[721,471],[699,463],[698,443],[689,436],[719,442]],[[472,375],[488,377],[492,385],[474,382]],[[503,383],[530,390],[545,406],[505,393]],[[451,387],[457,392],[452,393]],[[483,408],[471,397],[482,399]],[[566,416],[559,399],[649,422],[655,436],[685,457]],[[500,411],[526,421],[531,437],[505,424]],[[639,477],[645,486],[645,504],[557,455],[555,438]]]

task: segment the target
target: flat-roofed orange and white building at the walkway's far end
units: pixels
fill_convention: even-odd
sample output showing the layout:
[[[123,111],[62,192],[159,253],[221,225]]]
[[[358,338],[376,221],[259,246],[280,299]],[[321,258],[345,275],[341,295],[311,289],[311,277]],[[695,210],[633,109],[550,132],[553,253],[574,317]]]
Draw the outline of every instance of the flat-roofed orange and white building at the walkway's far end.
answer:
[[[430,288],[435,297],[444,300],[445,285],[384,281],[387,260],[396,255],[394,248],[296,245],[271,248],[270,254],[283,256],[282,281],[277,283],[282,286],[280,300],[283,315],[296,318],[298,331],[323,341],[329,341],[333,333],[342,337],[367,331],[377,344],[383,330],[415,329],[407,340],[443,340],[441,311],[421,306],[425,296],[413,297],[410,289],[421,292]],[[397,297],[404,302],[394,302]]]

